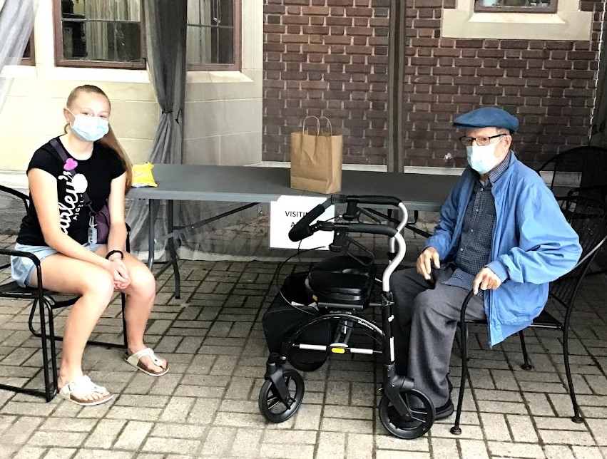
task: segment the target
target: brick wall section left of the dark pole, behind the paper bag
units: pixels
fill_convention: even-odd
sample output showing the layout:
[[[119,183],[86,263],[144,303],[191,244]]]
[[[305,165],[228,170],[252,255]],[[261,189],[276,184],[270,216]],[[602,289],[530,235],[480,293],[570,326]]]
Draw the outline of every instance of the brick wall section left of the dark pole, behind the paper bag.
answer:
[[[344,135],[344,162],[384,164],[389,1],[265,0],[264,160],[289,160],[306,115]]]

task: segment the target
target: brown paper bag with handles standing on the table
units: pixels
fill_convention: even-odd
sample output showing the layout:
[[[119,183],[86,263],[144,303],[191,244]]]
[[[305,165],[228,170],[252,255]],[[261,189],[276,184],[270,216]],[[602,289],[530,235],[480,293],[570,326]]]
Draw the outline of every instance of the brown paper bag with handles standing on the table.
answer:
[[[308,118],[316,120],[316,132],[308,133],[305,123]],[[291,187],[296,190],[324,193],[342,189],[342,135],[333,135],[329,118],[329,133],[322,133],[320,120],[307,116],[301,132],[291,133]]]

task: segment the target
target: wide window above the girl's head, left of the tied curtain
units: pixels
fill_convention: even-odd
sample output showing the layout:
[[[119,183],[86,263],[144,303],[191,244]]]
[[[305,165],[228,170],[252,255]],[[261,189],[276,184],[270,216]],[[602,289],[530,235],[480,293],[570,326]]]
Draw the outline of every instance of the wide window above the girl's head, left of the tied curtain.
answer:
[[[55,0],[58,66],[146,68],[141,0]]]

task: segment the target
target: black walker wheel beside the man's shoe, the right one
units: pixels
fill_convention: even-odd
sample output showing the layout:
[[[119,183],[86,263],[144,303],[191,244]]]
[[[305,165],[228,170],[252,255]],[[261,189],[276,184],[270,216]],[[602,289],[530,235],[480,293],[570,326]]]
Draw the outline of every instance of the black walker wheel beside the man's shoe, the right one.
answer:
[[[427,433],[434,423],[434,405],[424,393],[412,389],[402,393],[404,402],[411,408],[412,416],[403,418],[387,396],[379,401],[379,421],[395,437],[412,440]],[[412,408],[422,405],[423,408]]]

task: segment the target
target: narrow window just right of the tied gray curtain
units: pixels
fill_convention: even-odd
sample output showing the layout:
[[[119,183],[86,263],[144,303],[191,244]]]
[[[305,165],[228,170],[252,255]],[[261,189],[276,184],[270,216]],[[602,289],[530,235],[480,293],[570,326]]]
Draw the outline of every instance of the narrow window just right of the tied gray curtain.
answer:
[[[240,70],[240,0],[188,0],[188,70]]]

